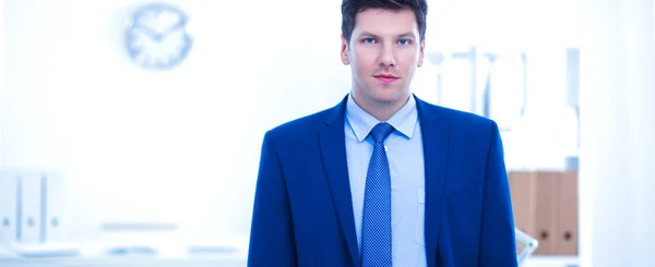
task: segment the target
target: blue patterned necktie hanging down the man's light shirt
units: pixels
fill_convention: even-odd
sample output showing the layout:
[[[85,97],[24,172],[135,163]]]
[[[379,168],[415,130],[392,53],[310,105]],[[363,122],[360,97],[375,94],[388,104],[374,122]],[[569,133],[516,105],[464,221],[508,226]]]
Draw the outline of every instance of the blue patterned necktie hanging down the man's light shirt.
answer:
[[[371,130],[373,155],[369,162],[361,218],[361,267],[391,267],[391,174],[384,139],[393,132],[389,123]]]

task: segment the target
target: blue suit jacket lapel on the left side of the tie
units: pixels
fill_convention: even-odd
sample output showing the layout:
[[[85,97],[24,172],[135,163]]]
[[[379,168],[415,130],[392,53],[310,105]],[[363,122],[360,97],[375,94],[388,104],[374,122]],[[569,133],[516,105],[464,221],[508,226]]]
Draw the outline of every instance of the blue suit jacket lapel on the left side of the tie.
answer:
[[[346,158],[346,136],[344,131],[344,114],[346,99],[334,107],[325,120],[325,125],[319,133],[321,156],[325,165],[327,184],[332,191],[332,199],[345,234],[348,251],[354,266],[359,266],[359,250],[355,233],[355,218],[353,213],[353,198],[348,180]]]

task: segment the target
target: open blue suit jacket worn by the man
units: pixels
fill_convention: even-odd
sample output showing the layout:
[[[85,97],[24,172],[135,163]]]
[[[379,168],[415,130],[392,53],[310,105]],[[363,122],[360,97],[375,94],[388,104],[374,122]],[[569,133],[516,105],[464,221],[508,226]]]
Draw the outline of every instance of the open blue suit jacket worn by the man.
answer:
[[[266,132],[248,266],[359,266],[346,159],[346,99]],[[430,267],[515,267],[503,148],[488,119],[416,98]]]

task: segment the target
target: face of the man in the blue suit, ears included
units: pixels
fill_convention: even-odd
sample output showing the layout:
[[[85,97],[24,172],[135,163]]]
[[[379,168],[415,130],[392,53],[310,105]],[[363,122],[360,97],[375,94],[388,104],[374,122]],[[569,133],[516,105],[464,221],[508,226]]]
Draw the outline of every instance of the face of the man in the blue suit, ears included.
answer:
[[[367,105],[407,100],[417,66],[422,64],[420,41],[412,10],[368,9],[357,14],[350,41],[342,36],[342,62],[350,64],[355,100]]]

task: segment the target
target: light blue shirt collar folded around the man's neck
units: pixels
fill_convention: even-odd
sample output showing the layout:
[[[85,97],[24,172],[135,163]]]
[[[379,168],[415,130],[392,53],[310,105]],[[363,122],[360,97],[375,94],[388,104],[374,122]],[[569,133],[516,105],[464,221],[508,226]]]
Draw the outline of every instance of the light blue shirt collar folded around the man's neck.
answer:
[[[353,94],[349,94],[346,104],[346,119],[350,123],[350,126],[355,132],[355,136],[357,136],[359,142],[366,139],[369,132],[378,123],[380,123],[378,119],[367,113],[355,102],[355,99],[353,99]],[[395,131],[400,132],[405,138],[412,138],[412,136],[414,136],[414,130],[417,121],[418,112],[416,110],[416,99],[409,96],[409,100],[405,104],[405,106],[403,106],[403,108],[389,118],[386,122],[391,124]]]

